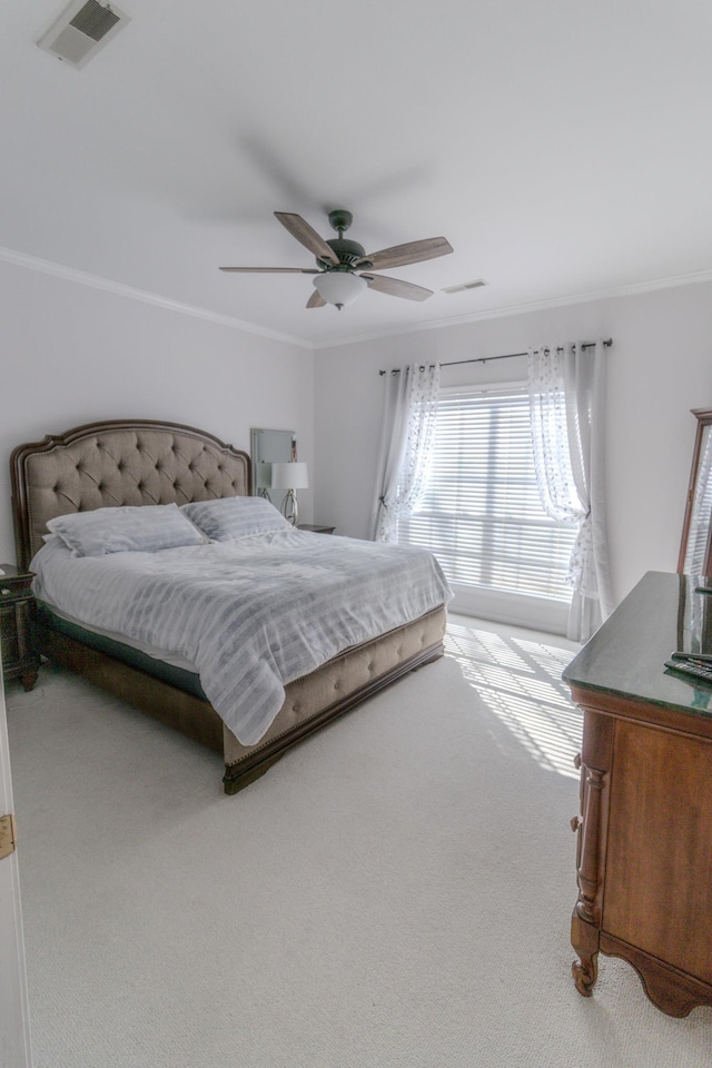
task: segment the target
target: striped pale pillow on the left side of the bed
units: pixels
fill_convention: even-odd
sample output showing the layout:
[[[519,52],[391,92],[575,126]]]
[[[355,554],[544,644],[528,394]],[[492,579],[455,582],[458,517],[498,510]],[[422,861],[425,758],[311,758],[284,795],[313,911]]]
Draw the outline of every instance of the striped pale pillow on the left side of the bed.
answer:
[[[59,534],[76,556],[155,553],[178,545],[205,544],[200,531],[181,515],[177,504],[73,512],[50,520],[47,528]]]

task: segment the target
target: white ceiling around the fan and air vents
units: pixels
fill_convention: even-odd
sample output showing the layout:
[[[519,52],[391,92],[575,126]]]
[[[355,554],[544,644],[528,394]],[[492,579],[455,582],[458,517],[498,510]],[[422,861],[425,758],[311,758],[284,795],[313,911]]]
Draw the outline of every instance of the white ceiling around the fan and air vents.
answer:
[[[0,0],[6,259],[317,347],[712,277],[709,0],[119,0],[81,71],[34,44],[65,6]],[[334,207],[447,237],[384,273],[434,296],[218,270],[314,267],[273,211]]]

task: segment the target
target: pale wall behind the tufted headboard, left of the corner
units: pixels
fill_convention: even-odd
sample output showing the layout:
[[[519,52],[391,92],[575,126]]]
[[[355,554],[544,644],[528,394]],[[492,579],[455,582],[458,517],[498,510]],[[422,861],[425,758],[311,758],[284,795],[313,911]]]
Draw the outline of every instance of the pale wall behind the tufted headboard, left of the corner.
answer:
[[[314,455],[313,353],[0,263],[0,561],[16,560],[13,446],[82,423],[185,423],[249,452],[250,427],[297,432]],[[299,494],[305,522],[312,492]]]

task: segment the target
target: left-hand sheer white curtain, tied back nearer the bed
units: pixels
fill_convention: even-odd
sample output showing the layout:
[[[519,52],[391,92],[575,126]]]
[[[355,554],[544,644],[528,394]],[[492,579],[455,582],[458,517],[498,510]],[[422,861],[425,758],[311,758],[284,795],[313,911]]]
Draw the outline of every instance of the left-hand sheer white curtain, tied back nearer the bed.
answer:
[[[373,520],[375,542],[395,542],[398,520],[418,504],[435,433],[439,364],[387,372]]]

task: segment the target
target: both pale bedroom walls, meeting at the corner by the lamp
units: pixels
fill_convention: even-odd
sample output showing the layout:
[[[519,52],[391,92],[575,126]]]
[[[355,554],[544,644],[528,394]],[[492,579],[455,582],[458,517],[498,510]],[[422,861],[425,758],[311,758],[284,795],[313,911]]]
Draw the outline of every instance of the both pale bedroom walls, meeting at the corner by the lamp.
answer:
[[[313,354],[0,263],[0,561],[14,560],[12,447],[80,423],[131,416],[187,423],[247,451],[253,426],[295,429],[299,456],[314,473],[314,491],[299,494],[305,522],[335,523],[344,534],[365,537],[380,368],[607,336],[609,527],[620,601],[645,571],[676,566],[695,429],[690,409],[712,407],[711,284]],[[523,360],[498,360],[445,368],[443,382],[522,375]]]

